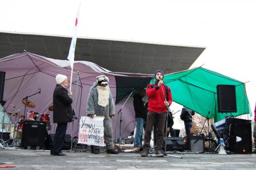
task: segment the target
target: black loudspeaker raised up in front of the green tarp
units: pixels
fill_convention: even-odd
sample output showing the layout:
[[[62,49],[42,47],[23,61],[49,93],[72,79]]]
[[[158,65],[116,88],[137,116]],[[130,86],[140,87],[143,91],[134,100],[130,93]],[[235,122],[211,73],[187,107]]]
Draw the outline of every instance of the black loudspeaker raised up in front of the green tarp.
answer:
[[[217,85],[218,112],[237,112],[236,86]]]

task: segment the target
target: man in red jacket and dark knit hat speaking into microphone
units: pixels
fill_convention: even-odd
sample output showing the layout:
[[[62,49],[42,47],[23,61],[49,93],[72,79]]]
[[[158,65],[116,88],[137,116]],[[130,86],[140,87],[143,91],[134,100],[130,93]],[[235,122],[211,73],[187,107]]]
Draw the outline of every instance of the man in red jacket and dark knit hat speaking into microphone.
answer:
[[[172,93],[170,88],[164,85],[162,70],[157,70],[155,73],[156,82],[148,84],[146,94],[149,98],[147,107],[146,130],[144,134],[144,144],[142,157],[146,157],[150,149],[151,132],[154,124],[158,127],[157,142],[156,142],[156,155],[162,155],[162,145],[164,139],[164,126],[167,107],[172,104]]]

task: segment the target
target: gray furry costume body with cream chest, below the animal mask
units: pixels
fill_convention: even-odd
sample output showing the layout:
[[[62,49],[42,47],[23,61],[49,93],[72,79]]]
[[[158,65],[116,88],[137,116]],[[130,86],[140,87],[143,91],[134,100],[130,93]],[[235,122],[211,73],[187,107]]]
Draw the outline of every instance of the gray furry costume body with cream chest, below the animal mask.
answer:
[[[91,87],[88,95],[86,115],[90,114],[105,117],[103,119],[103,127],[106,149],[114,149],[112,121],[110,116],[115,115],[115,105],[109,86],[99,86],[98,81]],[[96,148],[96,146],[94,146],[94,148]]]

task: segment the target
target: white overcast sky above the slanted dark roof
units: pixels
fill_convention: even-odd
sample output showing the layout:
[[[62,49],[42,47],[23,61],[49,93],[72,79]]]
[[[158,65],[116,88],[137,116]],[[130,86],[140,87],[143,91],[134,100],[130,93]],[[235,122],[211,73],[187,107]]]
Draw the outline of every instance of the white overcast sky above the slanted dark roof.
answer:
[[[71,37],[79,2],[78,37],[206,47],[191,67],[248,82],[254,111],[256,1],[8,0],[0,3],[0,31]]]

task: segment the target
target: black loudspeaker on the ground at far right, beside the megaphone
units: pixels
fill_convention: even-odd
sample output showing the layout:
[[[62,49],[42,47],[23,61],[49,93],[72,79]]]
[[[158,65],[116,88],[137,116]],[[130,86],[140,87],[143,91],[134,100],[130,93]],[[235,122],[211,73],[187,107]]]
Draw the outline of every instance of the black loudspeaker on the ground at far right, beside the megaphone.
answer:
[[[229,124],[226,150],[236,154],[251,154],[251,123],[233,122]]]

